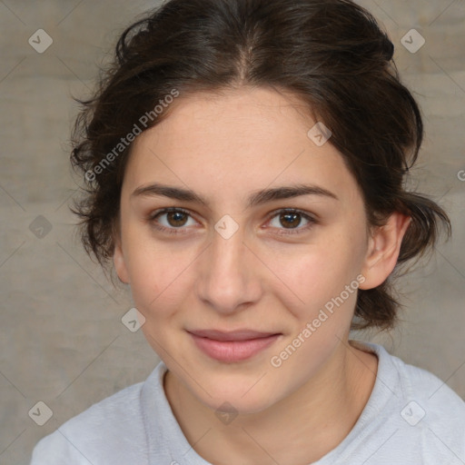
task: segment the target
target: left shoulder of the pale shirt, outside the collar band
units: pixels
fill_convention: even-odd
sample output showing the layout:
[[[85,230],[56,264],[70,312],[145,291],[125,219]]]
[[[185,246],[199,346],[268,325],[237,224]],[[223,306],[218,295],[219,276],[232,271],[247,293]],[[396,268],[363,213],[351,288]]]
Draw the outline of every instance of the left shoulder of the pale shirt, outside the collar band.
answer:
[[[124,388],[64,422],[37,442],[30,465],[144,463],[142,391],[147,381]]]

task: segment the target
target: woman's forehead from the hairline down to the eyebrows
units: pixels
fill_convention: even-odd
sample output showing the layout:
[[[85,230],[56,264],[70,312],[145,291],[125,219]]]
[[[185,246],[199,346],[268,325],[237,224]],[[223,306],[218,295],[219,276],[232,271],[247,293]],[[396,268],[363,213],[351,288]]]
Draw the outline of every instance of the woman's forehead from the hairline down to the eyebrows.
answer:
[[[135,140],[124,184],[170,183],[204,197],[245,199],[272,184],[312,183],[353,196],[357,185],[341,153],[309,137],[316,123],[295,96],[272,89],[181,95]]]

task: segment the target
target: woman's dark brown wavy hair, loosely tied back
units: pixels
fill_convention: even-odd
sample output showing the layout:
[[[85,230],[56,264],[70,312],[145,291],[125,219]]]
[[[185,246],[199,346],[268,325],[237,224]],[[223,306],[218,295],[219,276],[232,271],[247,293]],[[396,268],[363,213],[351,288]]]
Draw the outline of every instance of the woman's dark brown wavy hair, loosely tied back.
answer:
[[[404,189],[423,125],[393,51],[372,15],[350,0],[170,0],[145,15],[119,38],[94,96],[79,100],[71,160],[86,173],[86,189],[72,210],[81,218],[86,252],[104,268],[114,252],[131,149],[122,138],[135,126],[162,121],[169,108],[161,114],[153,108],[173,90],[185,95],[247,84],[291,91],[331,130],[331,143],[361,187],[369,225],[395,211],[411,216],[398,272],[402,262],[432,249],[440,224],[450,235],[450,221],[439,205]],[[141,120],[144,114],[151,117]],[[105,157],[111,163],[103,166]],[[400,304],[391,278],[359,290],[353,328],[393,326]]]

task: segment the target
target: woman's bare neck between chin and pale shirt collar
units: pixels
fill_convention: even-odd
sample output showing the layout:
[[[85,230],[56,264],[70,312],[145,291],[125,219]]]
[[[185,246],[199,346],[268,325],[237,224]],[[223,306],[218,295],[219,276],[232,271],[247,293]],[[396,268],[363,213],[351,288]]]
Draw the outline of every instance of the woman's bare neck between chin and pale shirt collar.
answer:
[[[320,460],[349,434],[370,397],[377,363],[374,354],[341,341],[322,370],[297,391],[225,425],[171,371],[164,391],[186,439],[205,460],[302,465]]]

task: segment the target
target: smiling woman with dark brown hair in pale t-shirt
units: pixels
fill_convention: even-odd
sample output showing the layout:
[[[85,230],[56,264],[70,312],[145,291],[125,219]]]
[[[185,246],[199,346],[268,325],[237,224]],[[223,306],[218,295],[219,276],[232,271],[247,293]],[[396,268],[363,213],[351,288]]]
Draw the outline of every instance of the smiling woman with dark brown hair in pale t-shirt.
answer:
[[[76,122],[83,242],[162,362],[39,464],[464,463],[465,404],[350,341],[447,214],[403,188],[420,111],[349,0],[171,0],[130,26]]]

